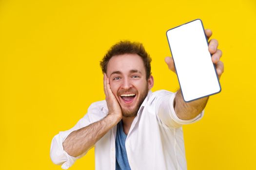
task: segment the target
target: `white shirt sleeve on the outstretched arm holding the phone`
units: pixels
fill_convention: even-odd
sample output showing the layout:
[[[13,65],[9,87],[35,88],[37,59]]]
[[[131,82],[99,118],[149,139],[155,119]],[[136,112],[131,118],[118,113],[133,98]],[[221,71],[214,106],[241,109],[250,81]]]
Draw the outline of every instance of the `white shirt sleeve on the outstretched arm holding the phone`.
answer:
[[[179,119],[174,110],[175,96],[176,93],[172,93],[166,90],[160,90],[159,94],[157,95],[158,117],[166,126],[177,128],[184,124],[194,123],[202,119],[204,110],[193,119]]]

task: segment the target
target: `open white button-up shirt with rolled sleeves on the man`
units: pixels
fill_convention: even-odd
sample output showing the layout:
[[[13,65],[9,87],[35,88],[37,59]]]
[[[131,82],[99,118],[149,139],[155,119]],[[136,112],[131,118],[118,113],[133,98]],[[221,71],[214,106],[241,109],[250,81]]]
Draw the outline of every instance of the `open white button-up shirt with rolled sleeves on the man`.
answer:
[[[125,141],[129,165],[132,170],[186,170],[182,125],[202,118],[200,113],[190,120],[179,119],[174,111],[175,93],[159,90],[149,91],[132,122]],[[63,150],[63,141],[73,131],[104,118],[108,114],[106,101],[94,102],[88,113],[68,131],[59,132],[51,143],[50,156],[55,164],[68,169],[85,155],[70,156]],[[95,144],[95,169],[116,169],[117,126],[114,126]]]

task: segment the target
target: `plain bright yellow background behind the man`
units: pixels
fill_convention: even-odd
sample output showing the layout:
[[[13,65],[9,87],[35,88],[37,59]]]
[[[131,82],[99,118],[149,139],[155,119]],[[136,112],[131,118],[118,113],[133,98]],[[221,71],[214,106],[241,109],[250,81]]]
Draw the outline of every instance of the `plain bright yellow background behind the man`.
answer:
[[[1,0],[0,170],[60,170],[51,140],[104,100],[99,61],[119,40],[144,44],[153,91],[177,90],[165,33],[196,18],[219,41],[225,72],[204,118],[184,126],[188,170],[255,169],[255,0]],[[94,167],[91,150],[70,170]]]

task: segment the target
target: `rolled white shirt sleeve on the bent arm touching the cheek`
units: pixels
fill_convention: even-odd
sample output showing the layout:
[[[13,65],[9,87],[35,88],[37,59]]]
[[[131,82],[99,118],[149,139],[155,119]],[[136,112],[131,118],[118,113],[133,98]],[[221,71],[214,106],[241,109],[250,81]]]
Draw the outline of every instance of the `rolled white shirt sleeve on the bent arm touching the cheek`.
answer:
[[[104,111],[104,109],[103,106],[100,105],[100,103],[93,103],[88,108],[87,114],[83,118],[81,118],[73,128],[67,131],[59,132],[59,134],[53,137],[51,142],[50,157],[54,164],[62,164],[61,168],[67,170],[75,163],[77,159],[84,156],[91,149],[88,149],[85,153],[79,155],[78,157],[73,157],[64,151],[62,143],[73,131],[81,129],[95,121],[98,121],[99,119],[102,119],[104,117],[102,111]]]

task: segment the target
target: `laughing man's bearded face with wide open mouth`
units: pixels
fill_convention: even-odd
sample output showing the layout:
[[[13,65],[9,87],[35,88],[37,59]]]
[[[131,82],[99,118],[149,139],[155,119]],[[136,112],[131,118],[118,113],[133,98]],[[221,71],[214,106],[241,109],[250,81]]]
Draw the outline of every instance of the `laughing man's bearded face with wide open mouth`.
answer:
[[[107,65],[110,87],[124,117],[134,117],[154,85],[152,76],[146,80],[146,69],[138,54],[113,56]]]

